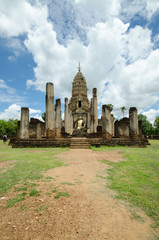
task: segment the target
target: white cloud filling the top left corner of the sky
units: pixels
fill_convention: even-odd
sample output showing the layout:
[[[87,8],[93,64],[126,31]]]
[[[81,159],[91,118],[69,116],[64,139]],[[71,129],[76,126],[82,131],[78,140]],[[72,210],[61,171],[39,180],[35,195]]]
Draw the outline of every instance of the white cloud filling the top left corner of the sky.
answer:
[[[27,33],[47,19],[47,8],[31,5],[25,0],[0,1],[0,36],[11,37]]]

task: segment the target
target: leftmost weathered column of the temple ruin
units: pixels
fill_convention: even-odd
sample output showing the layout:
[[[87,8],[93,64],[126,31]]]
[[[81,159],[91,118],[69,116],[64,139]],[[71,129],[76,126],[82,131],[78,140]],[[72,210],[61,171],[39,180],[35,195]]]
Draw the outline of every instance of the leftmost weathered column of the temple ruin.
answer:
[[[29,139],[29,108],[21,108],[20,138]]]

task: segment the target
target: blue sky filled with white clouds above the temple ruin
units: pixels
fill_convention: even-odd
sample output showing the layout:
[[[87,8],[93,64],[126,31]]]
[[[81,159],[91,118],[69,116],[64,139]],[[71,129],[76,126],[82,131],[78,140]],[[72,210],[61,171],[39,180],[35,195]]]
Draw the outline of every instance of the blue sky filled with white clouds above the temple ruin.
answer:
[[[45,85],[71,96],[78,63],[98,108],[159,116],[158,0],[0,0],[0,119],[45,111]],[[64,107],[62,106],[62,109]]]

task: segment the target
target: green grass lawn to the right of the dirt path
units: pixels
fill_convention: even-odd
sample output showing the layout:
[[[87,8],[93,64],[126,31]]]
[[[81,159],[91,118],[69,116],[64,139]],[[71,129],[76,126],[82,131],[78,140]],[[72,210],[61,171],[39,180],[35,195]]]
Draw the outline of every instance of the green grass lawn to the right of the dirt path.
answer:
[[[151,140],[147,148],[101,147],[95,151],[119,150],[126,161],[111,163],[109,187],[117,198],[128,200],[144,210],[159,226],[159,141]]]

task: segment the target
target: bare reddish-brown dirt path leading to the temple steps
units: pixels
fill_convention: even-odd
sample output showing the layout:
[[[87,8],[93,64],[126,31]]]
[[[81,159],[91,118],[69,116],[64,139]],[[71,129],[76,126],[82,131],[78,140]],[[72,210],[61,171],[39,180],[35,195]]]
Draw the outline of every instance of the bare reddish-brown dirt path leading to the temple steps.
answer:
[[[118,152],[70,150],[58,158],[67,165],[45,174],[39,197],[27,198],[23,211],[1,208],[0,239],[154,239],[149,218],[138,212],[144,222],[135,220],[132,209],[106,187],[109,166],[99,160],[123,161]],[[54,198],[59,192],[70,196]]]

